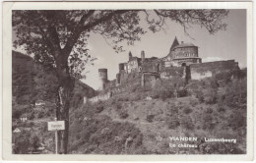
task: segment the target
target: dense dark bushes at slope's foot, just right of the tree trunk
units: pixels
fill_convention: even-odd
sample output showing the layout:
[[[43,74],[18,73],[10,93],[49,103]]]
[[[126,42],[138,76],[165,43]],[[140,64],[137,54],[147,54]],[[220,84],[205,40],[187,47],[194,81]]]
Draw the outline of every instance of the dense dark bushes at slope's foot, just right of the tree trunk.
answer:
[[[117,123],[107,116],[95,117],[88,122],[77,122],[71,128],[77,127],[80,132],[72,132],[70,150],[83,153],[101,154],[134,154],[143,147],[141,132],[129,123]],[[125,146],[126,139],[131,141]]]

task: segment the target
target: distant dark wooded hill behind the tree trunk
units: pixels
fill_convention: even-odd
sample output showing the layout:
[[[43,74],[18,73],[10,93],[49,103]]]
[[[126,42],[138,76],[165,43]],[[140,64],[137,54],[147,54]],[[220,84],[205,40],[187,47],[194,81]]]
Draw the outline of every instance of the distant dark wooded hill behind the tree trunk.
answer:
[[[54,101],[56,93],[56,77],[33,62],[30,56],[13,51],[12,85],[13,96],[18,104],[32,104],[36,100]],[[92,97],[96,90],[82,81],[75,82],[74,100],[84,96]]]

